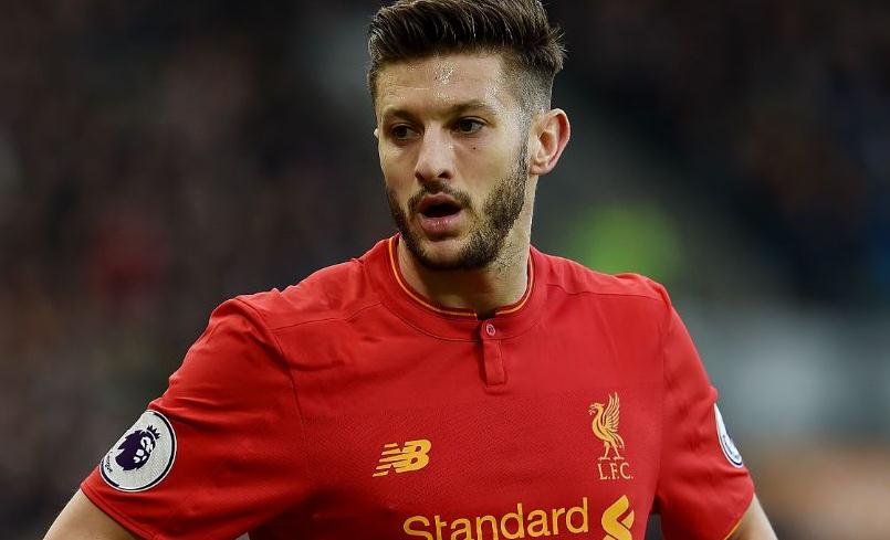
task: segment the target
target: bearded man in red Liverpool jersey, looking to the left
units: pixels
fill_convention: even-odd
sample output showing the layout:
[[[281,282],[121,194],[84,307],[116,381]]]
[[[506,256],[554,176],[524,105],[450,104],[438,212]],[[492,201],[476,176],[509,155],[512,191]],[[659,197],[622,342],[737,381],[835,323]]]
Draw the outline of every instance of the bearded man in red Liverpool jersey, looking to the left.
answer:
[[[399,1],[369,51],[399,234],[220,306],[48,538],[774,538],[663,288],[530,245],[541,3]]]

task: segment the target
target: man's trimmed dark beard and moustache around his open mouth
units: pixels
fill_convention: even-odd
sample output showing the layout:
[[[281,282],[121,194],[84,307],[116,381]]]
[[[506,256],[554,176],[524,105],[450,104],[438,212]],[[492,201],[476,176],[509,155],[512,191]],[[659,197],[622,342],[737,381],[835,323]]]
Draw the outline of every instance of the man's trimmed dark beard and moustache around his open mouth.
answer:
[[[448,181],[427,182],[418,193],[408,200],[408,210],[416,213],[420,200],[428,194],[444,193],[452,197],[473,220],[469,239],[453,257],[433,257],[425,247],[420,232],[411,229],[408,214],[396,200],[392,190],[387,189],[389,211],[401,234],[405,245],[421,266],[432,271],[474,271],[489,266],[503,252],[507,235],[525,205],[525,188],[528,183],[527,148],[523,140],[516,150],[513,169],[501,179],[482,204],[482,212],[475,211],[470,195],[451,188]]]

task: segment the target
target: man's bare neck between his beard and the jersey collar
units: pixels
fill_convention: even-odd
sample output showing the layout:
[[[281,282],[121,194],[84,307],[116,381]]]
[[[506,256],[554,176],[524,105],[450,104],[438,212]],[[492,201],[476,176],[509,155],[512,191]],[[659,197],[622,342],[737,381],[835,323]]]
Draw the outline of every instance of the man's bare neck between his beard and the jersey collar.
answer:
[[[528,287],[531,208],[525,204],[498,257],[479,269],[429,269],[417,262],[405,242],[399,242],[397,255],[402,276],[415,290],[440,306],[471,309],[480,319],[494,316],[499,307],[517,303]]]

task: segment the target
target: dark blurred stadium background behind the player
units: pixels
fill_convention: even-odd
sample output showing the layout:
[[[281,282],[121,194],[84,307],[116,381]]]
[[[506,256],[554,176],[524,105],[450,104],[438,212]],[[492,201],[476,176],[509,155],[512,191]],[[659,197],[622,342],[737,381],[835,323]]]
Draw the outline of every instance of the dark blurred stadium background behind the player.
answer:
[[[536,245],[668,285],[779,538],[890,538],[890,3],[547,4],[574,138]],[[391,234],[379,6],[2,2],[0,537],[42,536],[217,304]]]

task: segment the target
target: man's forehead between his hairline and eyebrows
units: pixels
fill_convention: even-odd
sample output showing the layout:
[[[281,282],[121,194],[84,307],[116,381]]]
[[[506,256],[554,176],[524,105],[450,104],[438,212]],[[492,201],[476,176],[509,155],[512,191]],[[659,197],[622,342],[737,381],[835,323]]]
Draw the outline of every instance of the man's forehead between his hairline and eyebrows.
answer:
[[[481,102],[494,110],[516,106],[501,55],[446,54],[397,62],[377,75],[377,114],[388,110],[444,110]]]

